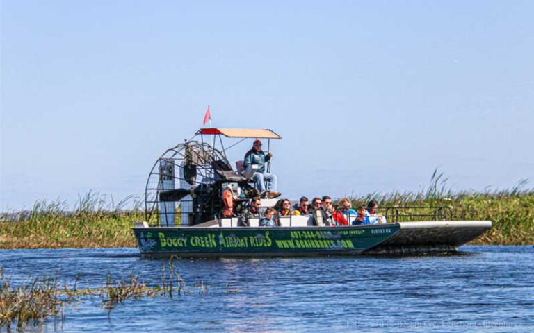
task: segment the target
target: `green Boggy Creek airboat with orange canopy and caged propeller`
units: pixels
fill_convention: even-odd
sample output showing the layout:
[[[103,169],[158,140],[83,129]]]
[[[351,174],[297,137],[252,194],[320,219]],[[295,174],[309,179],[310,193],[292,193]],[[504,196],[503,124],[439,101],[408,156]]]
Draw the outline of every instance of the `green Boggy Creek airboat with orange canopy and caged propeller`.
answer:
[[[238,142],[225,148],[227,139]],[[317,226],[311,216],[280,216],[278,226],[243,223],[243,211],[257,196],[243,161],[227,151],[247,139],[282,139],[269,129],[201,128],[169,148],[149,173],[145,219],[133,233],[147,257],[261,257],[318,255],[404,255],[450,253],[492,228],[491,221],[453,221],[448,207],[384,207],[389,223]],[[244,155],[245,151],[243,151]],[[270,168],[270,162],[268,162]],[[249,175],[250,176],[250,175]],[[234,198],[232,214],[223,192]],[[273,207],[276,199],[262,199]],[[421,214],[405,214],[421,208]],[[246,225],[246,226],[245,226]]]

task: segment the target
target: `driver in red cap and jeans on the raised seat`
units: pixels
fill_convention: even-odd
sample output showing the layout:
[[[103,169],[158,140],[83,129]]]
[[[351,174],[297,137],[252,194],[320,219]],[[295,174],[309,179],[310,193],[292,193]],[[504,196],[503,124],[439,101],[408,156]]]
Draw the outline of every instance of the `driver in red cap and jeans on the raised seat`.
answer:
[[[273,173],[268,173],[265,169],[265,163],[270,161],[273,157],[273,153],[270,151],[265,155],[261,150],[261,141],[255,140],[252,145],[252,149],[245,154],[243,160],[243,167],[248,169],[252,168],[252,179],[256,182],[256,186],[261,194],[262,198],[277,198],[281,196],[281,193],[276,191],[277,177]],[[269,182],[270,189],[266,188],[265,182]]]

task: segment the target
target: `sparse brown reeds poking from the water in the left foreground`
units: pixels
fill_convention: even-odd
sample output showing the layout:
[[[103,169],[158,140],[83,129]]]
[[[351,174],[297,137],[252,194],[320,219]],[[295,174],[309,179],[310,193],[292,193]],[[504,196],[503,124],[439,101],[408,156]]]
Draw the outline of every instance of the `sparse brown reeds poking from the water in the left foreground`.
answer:
[[[175,270],[174,258],[163,264],[159,282],[140,280],[137,275],[128,278],[113,278],[107,275],[106,281],[100,288],[76,287],[77,280],[69,285],[60,284],[56,275],[54,278],[34,278],[28,283],[13,287],[3,275],[0,266],[0,329],[8,331],[12,326],[17,331],[24,327],[42,325],[44,321],[53,320],[54,325],[65,321],[65,307],[82,298],[99,298],[102,309],[111,311],[127,300],[140,298],[163,297],[177,298],[179,296],[205,296],[211,291],[236,293],[238,288],[231,288],[226,284],[223,288],[213,288],[212,284],[200,281],[191,285],[186,284]]]

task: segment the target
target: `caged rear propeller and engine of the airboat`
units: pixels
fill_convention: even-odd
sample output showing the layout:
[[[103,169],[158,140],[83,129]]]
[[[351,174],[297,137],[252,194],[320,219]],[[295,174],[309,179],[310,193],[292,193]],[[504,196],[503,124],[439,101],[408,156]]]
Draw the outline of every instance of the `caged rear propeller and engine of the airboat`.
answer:
[[[225,212],[223,193],[236,200],[259,195],[230,167],[221,151],[205,142],[188,141],[169,148],[154,163],[145,189],[145,215],[152,225],[196,225],[219,219]],[[238,200],[239,199],[239,200]]]

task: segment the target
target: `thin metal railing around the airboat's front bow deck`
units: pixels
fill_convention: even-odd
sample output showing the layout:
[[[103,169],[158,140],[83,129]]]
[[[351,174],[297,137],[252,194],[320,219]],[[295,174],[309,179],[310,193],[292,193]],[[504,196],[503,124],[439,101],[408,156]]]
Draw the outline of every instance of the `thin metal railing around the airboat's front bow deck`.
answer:
[[[406,222],[417,220],[445,221],[453,219],[453,210],[449,206],[392,206],[381,207],[389,222]]]

